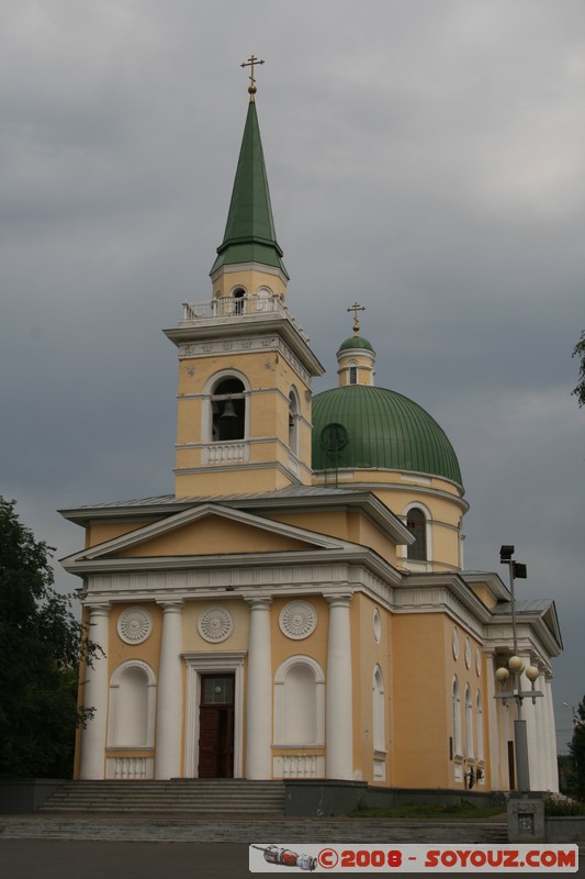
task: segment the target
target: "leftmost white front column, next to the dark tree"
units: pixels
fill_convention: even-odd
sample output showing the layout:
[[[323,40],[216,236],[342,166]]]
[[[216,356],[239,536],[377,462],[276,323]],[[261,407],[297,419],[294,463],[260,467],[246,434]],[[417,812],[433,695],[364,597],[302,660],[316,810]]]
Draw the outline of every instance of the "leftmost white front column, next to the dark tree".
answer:
[[[103,653],[97,652],[92,665],[86,668],[83,705],[93,709],[93,716],[81,731],[81,765],[79,778],[104,778],[105,731],[108,724],[108,649],[110,604],[89,607],[88,637]]]

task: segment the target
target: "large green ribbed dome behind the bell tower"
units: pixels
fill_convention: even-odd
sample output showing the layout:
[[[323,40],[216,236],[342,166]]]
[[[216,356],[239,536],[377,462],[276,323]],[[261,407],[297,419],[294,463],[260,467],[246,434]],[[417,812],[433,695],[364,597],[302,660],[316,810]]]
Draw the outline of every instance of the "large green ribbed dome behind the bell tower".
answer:
[[[410,470],[462,487],[455,453],[428,412],[402,393],[368,385],[313,398],[313,469]]]

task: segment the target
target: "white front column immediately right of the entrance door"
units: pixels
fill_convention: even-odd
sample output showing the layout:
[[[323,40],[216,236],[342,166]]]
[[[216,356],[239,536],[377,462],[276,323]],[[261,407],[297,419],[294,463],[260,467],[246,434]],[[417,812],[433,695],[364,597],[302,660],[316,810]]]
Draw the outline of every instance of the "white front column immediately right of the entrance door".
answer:
[[[270,598],[246,599],[250,605],[246,681],[246,778],[272,778],[272,655]]]

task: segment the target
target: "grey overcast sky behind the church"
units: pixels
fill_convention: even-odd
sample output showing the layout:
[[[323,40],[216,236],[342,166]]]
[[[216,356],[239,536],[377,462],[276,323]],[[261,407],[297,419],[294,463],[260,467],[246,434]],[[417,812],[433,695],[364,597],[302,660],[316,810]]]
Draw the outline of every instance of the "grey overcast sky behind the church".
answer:
[[[0,491],[63,557],[82,534],[57,509],[173,490],[161,329],[211,297],[251,53],[316,389],[359,299],[376,383],[458,453],[466,567],[505,576],[515,544],[518,597],[556,602],[562,746],[585,692],[582,0],[3,0]]]

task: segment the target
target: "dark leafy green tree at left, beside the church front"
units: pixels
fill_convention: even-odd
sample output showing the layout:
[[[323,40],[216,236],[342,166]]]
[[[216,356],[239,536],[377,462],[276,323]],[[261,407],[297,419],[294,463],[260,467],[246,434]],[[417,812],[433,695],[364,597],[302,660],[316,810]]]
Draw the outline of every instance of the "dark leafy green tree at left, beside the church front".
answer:
[[[0,776],[70,777],[79,663],[94,645],[55,591],[53,549],[0,496]]]

